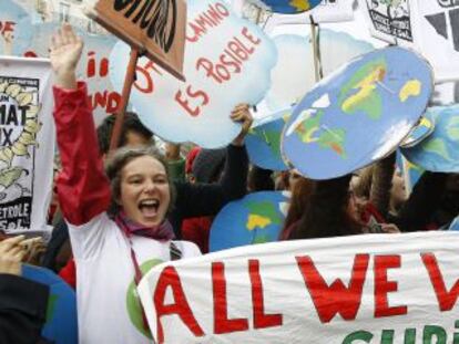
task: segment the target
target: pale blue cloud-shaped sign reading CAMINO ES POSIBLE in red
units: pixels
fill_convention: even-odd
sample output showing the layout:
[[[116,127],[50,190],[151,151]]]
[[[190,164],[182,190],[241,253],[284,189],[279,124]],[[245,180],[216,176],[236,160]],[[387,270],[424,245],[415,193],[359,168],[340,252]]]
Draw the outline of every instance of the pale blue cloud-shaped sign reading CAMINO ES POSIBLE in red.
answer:
[[[186,83],[140,59],[131,101],[143,124],[162,138],[191,140],[205,148],[227,145],[241,132],[230,114],[238,103],[256,104],[269,86],[276,50],[263,31],[236,17],[218,0],[187,3]],[[212,48],[212,49],[211,49]],[[129,46],[119,42],[110,56],[110,77],[121,85]]]

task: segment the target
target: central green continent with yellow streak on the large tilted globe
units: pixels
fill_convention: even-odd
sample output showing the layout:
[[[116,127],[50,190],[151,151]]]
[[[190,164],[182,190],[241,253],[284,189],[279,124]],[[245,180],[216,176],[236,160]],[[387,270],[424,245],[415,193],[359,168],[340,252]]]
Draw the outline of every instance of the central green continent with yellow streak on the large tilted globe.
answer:
[[[338,102],[344,113],[359,111],[369,118],[378,119],[382,112],[382,100],[377,88],[386,75],[386,61],[379,59],[364,64],[343,86]]]

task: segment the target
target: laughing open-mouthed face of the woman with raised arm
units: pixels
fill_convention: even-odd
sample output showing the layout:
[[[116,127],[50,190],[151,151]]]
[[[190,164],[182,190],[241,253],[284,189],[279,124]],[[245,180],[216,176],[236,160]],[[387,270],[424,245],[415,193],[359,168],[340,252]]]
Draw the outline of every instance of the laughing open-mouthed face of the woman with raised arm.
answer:
[[[157,226],[170,201],[166,170],[157,159],[144,155],[123,167],[120,206],[131,220],[145,227]]]

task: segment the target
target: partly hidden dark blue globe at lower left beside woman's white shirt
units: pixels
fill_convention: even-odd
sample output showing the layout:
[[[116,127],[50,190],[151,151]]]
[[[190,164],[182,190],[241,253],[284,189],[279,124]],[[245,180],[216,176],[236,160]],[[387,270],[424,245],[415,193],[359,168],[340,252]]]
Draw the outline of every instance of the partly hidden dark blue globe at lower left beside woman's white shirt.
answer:
[[[74,290],[55,273],[40,267],[24,264],[22,277],[50,288],[42,336],[55,344],[76,344],[78,320]]]

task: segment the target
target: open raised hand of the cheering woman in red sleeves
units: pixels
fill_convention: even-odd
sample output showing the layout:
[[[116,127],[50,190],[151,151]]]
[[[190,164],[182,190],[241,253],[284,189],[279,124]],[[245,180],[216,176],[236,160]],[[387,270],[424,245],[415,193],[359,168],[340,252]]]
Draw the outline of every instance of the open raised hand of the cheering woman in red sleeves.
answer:
[[[64,23],[53,34],[50,46],[51,65],[54,71],[54,84],[62,88],[76,88],[75,70],[83,50],[83,41],[70,24]]]

